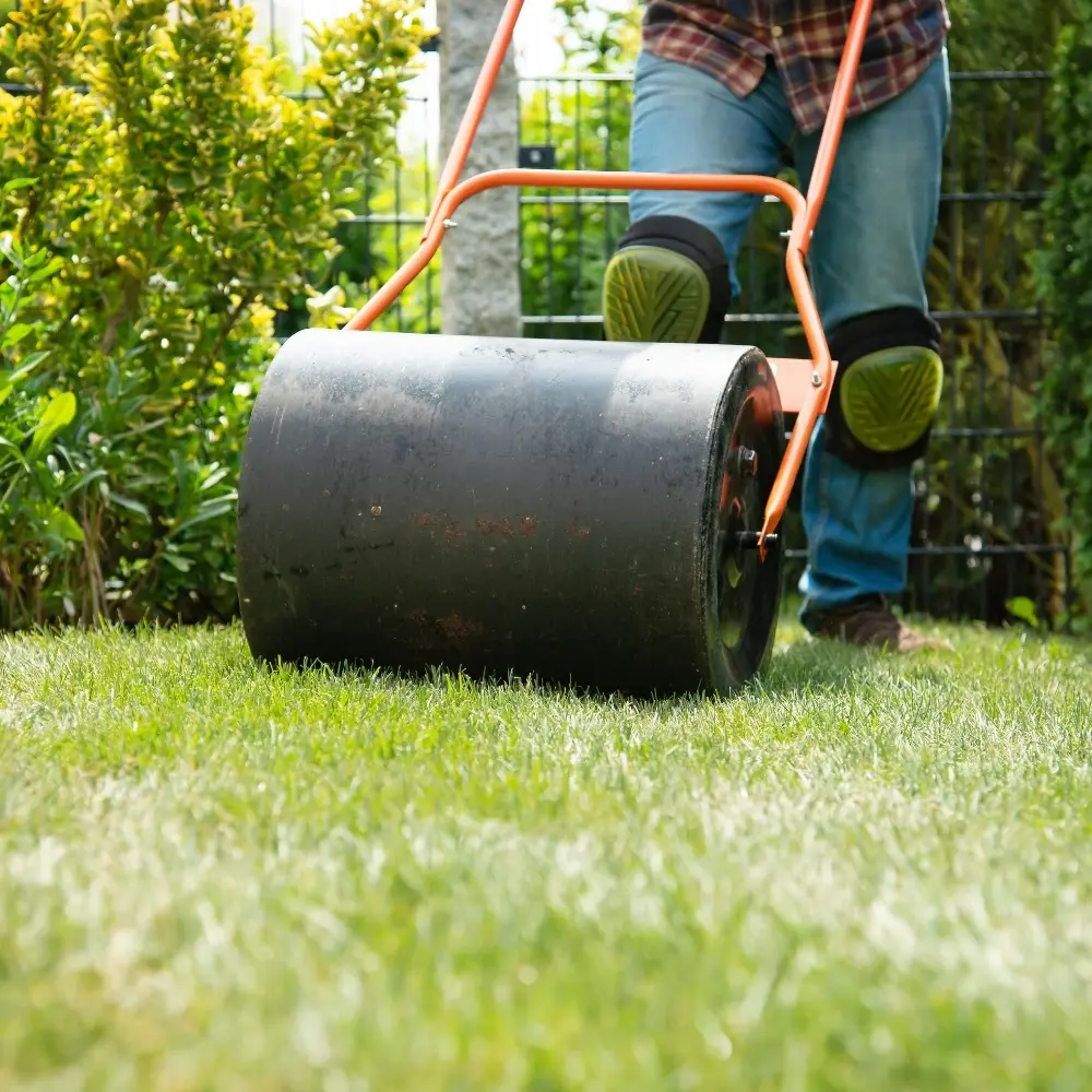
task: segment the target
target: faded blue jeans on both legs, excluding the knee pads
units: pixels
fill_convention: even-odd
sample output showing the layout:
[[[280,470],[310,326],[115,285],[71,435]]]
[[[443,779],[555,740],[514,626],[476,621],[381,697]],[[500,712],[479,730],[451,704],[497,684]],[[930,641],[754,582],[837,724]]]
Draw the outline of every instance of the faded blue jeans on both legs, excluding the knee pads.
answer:
[[[947,52],[898,98],[846,121],[809,252],[816,304],[829,331],[882,308],[927,310],[924,270],[936,230],[941,154],[951,114]],[[642,52],[637,66],[633,170],[776,175],[787,149],[806,191],[820,134],[800,134],[769,69],[739,98],[712,76]],[[633,221],[688,216],[735,259],[761,198],[637,191]],[[824,420],[810,438],[803,479],[808,565],[805,626],[816,612],[906,585],[914,486],[910,466],[858,471],[827,452]]]

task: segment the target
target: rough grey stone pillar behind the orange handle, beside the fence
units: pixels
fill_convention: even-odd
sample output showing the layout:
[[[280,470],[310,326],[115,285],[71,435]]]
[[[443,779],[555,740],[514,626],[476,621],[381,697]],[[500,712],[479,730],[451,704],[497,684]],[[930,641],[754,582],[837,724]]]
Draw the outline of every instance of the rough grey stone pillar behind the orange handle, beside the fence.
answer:
[[[447,156],[503,10],[503,0],[438,0],[440,151]],[[471,146],[463,177],[514,167],[519,156],[519,94],[509,50]],[[519,336],[519,191],[471,198],[454,216],[440,250],[442,330],[451,334]]]

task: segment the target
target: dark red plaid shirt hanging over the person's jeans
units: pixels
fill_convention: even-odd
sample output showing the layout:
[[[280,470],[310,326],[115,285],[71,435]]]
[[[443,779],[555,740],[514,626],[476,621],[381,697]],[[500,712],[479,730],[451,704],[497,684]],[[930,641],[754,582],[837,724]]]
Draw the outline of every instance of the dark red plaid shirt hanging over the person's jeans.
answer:
[[[804,133],[827,117],[853,0],[648,0],[643,48],[692,66],[740,97],[772,62]],[[945,0],[875,0],[848,116],[910,87],[943,48]]]

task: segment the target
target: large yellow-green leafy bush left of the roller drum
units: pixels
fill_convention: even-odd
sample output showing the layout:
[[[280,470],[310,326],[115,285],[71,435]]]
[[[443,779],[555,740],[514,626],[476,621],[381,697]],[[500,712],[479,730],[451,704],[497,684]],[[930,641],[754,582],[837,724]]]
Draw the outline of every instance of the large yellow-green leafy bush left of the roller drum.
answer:
[[[312,28],[298,100],[230,0],[82,7],[0,32],[31,88],[0,93],[0,626],[226,617],[274,318],[391,159],[420,27],[369,0]]]

